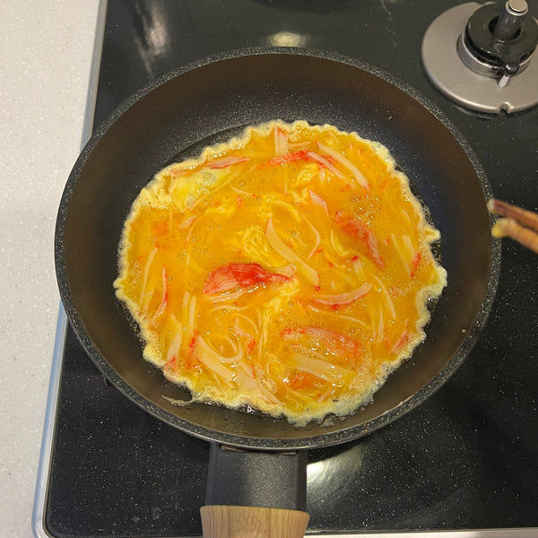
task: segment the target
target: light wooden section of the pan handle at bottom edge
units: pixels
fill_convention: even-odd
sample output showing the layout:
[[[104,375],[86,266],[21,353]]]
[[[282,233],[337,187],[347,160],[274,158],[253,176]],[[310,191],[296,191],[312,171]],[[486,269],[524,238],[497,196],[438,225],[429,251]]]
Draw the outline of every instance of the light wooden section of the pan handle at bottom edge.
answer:
[[[204,538],[303,538],[308,514],[282,508],[200,508]]]

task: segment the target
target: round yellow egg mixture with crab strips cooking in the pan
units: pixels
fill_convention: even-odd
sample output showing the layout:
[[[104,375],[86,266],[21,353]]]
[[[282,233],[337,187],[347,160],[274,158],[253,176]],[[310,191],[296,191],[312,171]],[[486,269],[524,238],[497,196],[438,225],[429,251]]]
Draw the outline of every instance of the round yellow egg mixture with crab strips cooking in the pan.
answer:
[[[273,121],[143,188],[114,286],[193,400],[300,426],[367,404],[424,339],[438,239],[384,146]]]

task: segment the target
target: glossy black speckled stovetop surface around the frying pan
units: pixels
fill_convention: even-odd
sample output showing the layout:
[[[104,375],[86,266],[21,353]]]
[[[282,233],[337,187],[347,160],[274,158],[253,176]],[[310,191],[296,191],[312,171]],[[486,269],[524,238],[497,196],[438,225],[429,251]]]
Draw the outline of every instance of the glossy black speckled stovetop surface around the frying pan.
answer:
[[[534,16],[538,0],[529,0]],[[454,0],[109,0],[99,125],[161,74],[215,52],[294,45],[408,82],[456,124],[496,197],[538,209],[538,108],[474,113],[441,96],[421,39]],[[535,60],[535,61],[538,61]],[[367,438],[313,450],[311,533],[538,526],[538,258],[506,241],[497,298],[464,365]],[[51,536],[198,536],[209,444],[106,385],[71,329],[62,359],[44,527]]]

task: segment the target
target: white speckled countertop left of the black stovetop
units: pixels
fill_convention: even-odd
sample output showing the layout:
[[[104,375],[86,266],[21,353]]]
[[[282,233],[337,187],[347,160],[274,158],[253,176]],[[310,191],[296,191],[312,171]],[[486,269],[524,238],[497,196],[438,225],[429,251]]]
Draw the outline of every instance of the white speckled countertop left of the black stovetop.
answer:
[[[81,146],[98,0],[0,3],[0,535],[31,536],[59,295],[56,209]]]

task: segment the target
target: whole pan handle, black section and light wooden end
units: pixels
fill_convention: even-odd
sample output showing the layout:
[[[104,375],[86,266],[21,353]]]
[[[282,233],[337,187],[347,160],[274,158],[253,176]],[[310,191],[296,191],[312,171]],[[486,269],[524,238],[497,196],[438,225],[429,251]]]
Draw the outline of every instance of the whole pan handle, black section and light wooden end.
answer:
[[[308,453],[241,450],[212,443],[204,538],[302,538]]]

